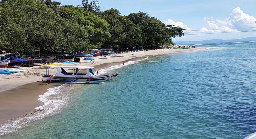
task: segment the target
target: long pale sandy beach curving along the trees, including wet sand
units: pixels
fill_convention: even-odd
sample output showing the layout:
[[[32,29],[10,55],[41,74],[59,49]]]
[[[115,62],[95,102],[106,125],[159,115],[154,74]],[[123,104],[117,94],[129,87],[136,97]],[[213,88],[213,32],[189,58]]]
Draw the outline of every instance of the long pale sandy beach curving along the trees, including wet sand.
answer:
[[[159,49],[149,50],[146,52],[129,52],[119,54],[124,57],[106,56],[107,59],[95,58],[95,63],[85,61],[81,57],[81,62],[75,64],[63,65],[79,65],[79,66],[95,66],[94,71],[108,68],[114,65],[120,65],[127,61],[142,60],[146,57],[153,57],[158,55],[171,54],[182,51],[194,51],[205,48],[190,48],[190,49]],[[22,115],[29,114],[35,110],[35,107],[43,105],[38,100],[38,96],[47,92],[47,89],[59,86],[59,84],[39,83],[41,81],[41,74],[45,73],[45,69],[41,66],[36,67],[19,67],[26,70],[24,73],[12,75],[0,75],[0,122],[10,119],[19,118]],[[7,68],[13,69],[13,68]],[[55,74],[54,69],[51,70]]]

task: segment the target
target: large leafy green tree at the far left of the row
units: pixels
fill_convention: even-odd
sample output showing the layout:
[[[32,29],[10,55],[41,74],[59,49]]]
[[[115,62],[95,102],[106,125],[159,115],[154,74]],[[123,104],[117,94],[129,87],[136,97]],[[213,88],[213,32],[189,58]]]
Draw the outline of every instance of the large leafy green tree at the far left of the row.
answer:
[[[7,0],[1,2],[5,17],[0,22],[2,43],[7,51],[58,51],[64,45],[62,18],[41,0]],[[19,8],[16,8],[19,7]],[[9,16],[7,17],[6,14]],[[46,16],[47,15],[47,16]]]

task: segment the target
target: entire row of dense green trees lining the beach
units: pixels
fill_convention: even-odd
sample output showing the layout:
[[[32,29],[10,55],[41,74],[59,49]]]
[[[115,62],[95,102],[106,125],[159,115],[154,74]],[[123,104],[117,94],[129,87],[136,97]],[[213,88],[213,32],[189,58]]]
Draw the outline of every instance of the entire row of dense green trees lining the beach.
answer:
[[[97,1],[82,0],[81,6],[51,0],[0,1],[0,49],[7,52],[155,49],[170,45],[183,30],[148,13],[100,11]]]

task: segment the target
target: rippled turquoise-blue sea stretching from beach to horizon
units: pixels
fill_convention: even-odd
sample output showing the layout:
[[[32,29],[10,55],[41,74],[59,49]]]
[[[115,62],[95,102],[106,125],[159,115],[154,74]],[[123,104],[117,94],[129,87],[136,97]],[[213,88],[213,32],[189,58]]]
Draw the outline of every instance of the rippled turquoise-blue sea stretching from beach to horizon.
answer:
[[[2,126],[0,138],[241,139],[255,132],[256,43],[201,47],[209,48],[105,69],[120,75],[104,84],[52,88],[40,96],[49,111]]]

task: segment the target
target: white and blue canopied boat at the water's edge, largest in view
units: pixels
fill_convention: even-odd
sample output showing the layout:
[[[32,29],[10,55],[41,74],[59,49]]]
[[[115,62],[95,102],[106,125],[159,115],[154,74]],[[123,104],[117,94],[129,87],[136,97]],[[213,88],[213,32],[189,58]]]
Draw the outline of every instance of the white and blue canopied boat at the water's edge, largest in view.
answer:
[[[46,74],[42,75],[47,82],[104,82],[118,76],[118,74],[98,75],[93,72],[94,67],[86,66],[46,66]],[[57,74],[50,75],[50,69],[55,68]],[[72,73],[68,73],[64,68],[72,68]],[[79,70],[80,69],[80,70]],[[82,73],[81,73],[82,72]]]

